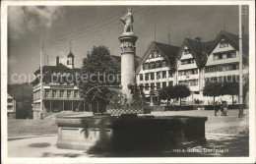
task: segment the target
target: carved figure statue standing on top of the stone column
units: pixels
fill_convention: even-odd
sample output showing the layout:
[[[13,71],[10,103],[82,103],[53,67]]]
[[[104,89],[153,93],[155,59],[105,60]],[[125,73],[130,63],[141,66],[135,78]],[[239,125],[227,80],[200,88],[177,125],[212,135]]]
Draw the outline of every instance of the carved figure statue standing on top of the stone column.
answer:
[[[131,9],[127,9],[127,14],[120,19],[120,21],[124,25],[123,34],[133,34],[133,16],[131,13]]]

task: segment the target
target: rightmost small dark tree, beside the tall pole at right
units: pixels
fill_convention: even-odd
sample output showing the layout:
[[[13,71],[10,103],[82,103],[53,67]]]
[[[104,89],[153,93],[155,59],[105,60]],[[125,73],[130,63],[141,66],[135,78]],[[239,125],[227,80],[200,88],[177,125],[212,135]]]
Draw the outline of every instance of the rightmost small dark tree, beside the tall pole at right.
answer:
[[[233,95],[239,94],[239,82],[224,82],[222,95],[224,94],[232,95],[232,105],[233,105]]]

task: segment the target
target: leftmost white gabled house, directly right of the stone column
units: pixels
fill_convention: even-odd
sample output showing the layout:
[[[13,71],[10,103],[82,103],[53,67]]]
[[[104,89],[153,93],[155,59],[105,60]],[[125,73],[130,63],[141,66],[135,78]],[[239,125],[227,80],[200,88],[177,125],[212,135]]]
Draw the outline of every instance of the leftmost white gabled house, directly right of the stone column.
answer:
[[[155,90],[173,85],[178,50],[176,46],[152,42],[136,69],[136,81],[145,86],[146,97],[153,97],[150,95]]]

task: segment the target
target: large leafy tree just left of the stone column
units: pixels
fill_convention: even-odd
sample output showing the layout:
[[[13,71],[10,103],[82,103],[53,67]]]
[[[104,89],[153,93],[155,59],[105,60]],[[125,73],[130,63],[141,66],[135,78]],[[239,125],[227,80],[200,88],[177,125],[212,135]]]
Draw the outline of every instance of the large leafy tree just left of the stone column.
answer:
[[[105,85],[120,84],[120,68],[120,63],[110,55],[105,46],[94,46],[93,50],[88,52],[87,58],[83,60],[79,82],[80,96],[93,104],[100,102],[103,108],[100,109],[101,113],[109,103],[109,93],[113,91],[110,86],[105,87]],[[95,87],[100,85],[104,86]],[[92,91],[88,92],[90,89]]]

